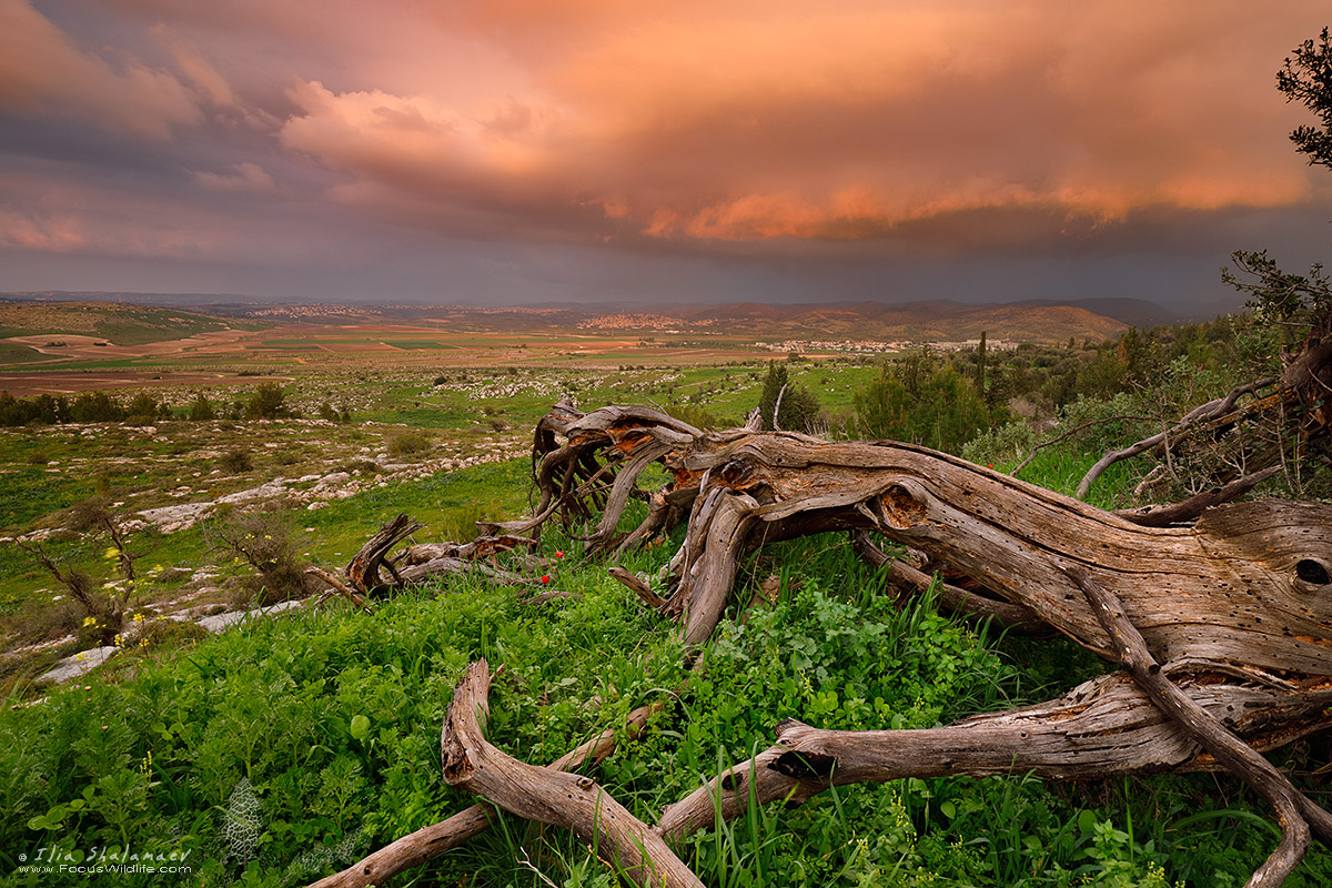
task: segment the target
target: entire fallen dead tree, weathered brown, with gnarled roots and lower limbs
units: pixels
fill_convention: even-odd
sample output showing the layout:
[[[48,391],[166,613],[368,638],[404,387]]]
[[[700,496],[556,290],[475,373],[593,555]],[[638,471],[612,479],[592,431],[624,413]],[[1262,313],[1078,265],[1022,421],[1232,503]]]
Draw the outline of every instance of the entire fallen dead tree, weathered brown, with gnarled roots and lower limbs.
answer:
[[[654,462],[670,481],[642,490]],[[721,620],[747,553],[850,531],[871,562],[887,566],[878,542],[886,539],[958,578],[940,598],[956,611],[1046,627],[1123,667],[1048,703],[943,728],[843,732],[785,722],[771,750],[671,805],[651,827],[654,836],[674,843],[754,800],[801,801],[848,783],[1225,770],[1276,807],[1285,836],[1251,885],[1279,884],[1311,835],[1332,843],[1332,817],[1259,755],[1332,727],[1332,506],[1215,505],[1221,493],[1176,509],[1168,522],[1135,522],[923,447],[747,427],[703,434],[646,407],[582,414],[567,403],[538,426],[534,475],[537,514],[486,527],[492,535],[482,539],[497,531],[535,539],[558,518],[575,530],[587,526],[591,550],[621,551],[663,533],[687,503],[667,594],[626,571],[617,579],[677,619],[691,647]],[[649,515],[622,530],[635,497],[647,499]],[[362,550],[366,556],[353,562],[362,583],[378,578],[376,553],[392,546],[385,539],[402,535],[402,527],[386,529],[370,553]],[[412,567],[394,575],[406,582]],[[906,564],[886,568],[908,591],[930,580]],[[458,699],[484,698],[485,667],[476,670]],[[493,751],[480,723],[462,716],[450,716],[445,732],[452,783],[522,816],[594,835],[598,852],[639,884],[694,884],[627,813],[595,825],[613,833],[589,832],[587,805],[611,809],[594,784],[579,784],[575,800],[573,792],[561,796],[562,783],[546,785],[535,775],[538,789],[537,770]]]

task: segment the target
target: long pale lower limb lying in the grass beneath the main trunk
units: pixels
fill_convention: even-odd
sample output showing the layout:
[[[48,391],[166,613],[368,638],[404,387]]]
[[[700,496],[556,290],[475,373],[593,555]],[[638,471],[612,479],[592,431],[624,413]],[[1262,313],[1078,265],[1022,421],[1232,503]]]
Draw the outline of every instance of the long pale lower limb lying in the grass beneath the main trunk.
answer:
[[[1293,692],[1233,684],[1181,684],[1257,750],[1284,746],[1325,724],[1332,687]],[[777,746],[677,801],[655,829],[674,840],[759,803],[799,803],[831,785],[902,777],[1034,775],[1106,779],[1162,771],[1213,771],[1215,759],[1163,715],[1126,672],[1092,679],[1048,703],[963,719],[942,728],[823,731],[787,719]]]

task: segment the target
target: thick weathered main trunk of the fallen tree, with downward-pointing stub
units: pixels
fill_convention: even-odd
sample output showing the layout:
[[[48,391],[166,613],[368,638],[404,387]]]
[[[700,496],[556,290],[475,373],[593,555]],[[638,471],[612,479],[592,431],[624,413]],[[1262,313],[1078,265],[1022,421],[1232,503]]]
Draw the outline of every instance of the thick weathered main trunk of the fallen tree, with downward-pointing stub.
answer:
[[[1329,671],[1332,602],[1311,595],[1297,571],[1332,564],[1332,506],[1231,503],[1192,527],[1142,527],[922,447],[785,433],[711,435],[674,467],[701,478],[671,598],[673,611],[690,615],[690,643],[715,624],[747,546],[874,530],[1107,659],[1114,652],[1068,567],[1119,595],[1172,667],[1261,682]]]

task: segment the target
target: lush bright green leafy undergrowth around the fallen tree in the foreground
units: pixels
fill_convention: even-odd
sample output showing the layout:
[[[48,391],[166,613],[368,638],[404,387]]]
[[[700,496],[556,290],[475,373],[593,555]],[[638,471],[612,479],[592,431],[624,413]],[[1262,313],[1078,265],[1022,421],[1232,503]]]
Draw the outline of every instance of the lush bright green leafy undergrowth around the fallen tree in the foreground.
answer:
[[[496,474],[486,486],[502,483]],[[332,872],[472,803],[440,783],[437,744],[452,687],[480,656],[506,667],[488,736],[522,760],[554,759],[637,706],[667,703],[597,772],[649,821],[701,777],[766,748],[783,716],[931,727],[1007,706],[1028,679],[1004,663],[1004,643],[940,616],[928,598],[896,607],[835,537],[751,559],[742,582],[751,588],[775,568],[781,596],[723,622],[705,667],[686,672],[669,624],[583,567],[577,541],[551,538],[545,554],[557,546],[566,556],[555,582],[577,600],[534,608],[511,590],[464,582],[373,615],[337,603],[178,652],[127,652],[111,675],[53,691],[40,719],[7,707],[4,868],[25,848],[115,844],[188,852],[198,868],[182,884],[301,884]],[[650,550],[629,567],[650,572],[667,555]],[[899,780],[797,811],[754,805],[682,855],[710,885],[1240,884],[1271,836],[1243,793],[1221,788],[1216,805],[1205,801],[1209,777],[1080,792],[1020,776]],[[545,884],[533,868],[555,884],[614,884],[578,841],[510,817],[390,884]],[[1315,852],[1287,884],[1328,876]]]

